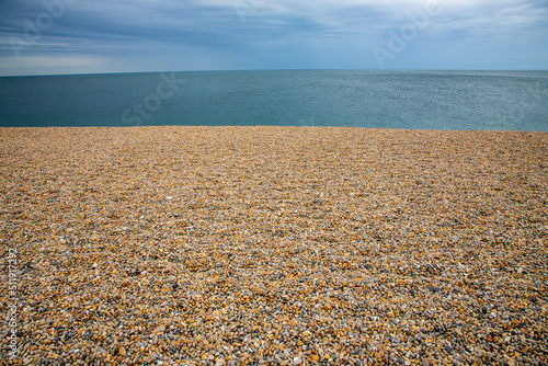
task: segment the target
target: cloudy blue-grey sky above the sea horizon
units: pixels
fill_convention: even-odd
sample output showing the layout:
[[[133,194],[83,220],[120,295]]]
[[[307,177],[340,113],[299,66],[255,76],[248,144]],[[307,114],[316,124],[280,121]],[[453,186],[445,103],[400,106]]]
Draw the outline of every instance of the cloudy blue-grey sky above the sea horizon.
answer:
[[[0,76],[548,69],[548,0],[0,0]]]

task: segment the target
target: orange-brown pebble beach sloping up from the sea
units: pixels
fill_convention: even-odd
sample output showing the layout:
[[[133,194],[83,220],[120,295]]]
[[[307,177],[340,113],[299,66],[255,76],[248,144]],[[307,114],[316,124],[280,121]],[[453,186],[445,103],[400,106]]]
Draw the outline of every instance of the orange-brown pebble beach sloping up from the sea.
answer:
[[[547,157],[548,133],[0,128],[0,365],[547,365]]]

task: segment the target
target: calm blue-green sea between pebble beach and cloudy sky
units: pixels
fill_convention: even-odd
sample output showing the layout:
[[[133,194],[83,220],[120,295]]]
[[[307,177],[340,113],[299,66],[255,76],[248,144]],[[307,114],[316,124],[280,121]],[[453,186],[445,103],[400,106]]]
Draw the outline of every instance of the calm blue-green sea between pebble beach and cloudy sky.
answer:
[[[271,70],[0,78],[0,126],[548,131],[548,71]]]

